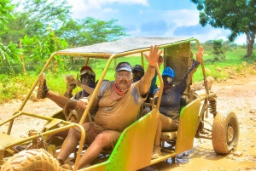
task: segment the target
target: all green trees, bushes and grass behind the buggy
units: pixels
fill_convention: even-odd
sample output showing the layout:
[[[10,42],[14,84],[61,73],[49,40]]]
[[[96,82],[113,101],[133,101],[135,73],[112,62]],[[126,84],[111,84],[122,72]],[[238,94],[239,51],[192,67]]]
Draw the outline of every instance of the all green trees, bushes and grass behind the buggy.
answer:
[[[214,77],[215,80],[224,80],[230,75],[254,74],[255,67],[251,66],[256,58],[253,52],[253,48],[255,49],[253,28],[255,26],[254,22],[251,22],[255,14],[253,1],[245,3],[239,0],[238,3],[231,2],[229,5],[223,5],[222,3],[226,2],[217,0],[191,0],[191,2],[201,10],[202,26],[210,24],[213,27],[224,26],[230,29],[232,32],[230,41],[235,40],[239,34],[247,34],[248,45],[238,46],[236,43],[224,42],[221,39],[202,43],[205,54],[208,54],[204,58],[207,75]],[[208,5],[213,5],[213,8],[207,8]],[[96,20],[91,17],[80,20],[72,19],[71,6],[67,0],[55,2],[3,0],[0,2],[0,7],[2,7],[0,8],[0,103],[12,99],[22,100],[37,79],[49,55],[56,50],[103,43],[128,36],[124,27],[115,24],[117,22],[115,19],[109,21]],[[239,10],[227,15],[232,8]],[[209,23],[210,20],[212,23]],[[237,25],[230,26],[230,23]],[[197,51],[195,44],[192,44],[192,51]],[[245,56],[247,58],[244,58]],[[140,58],[125,57],[116,62],[119,61],[129,61],[131,66],[141,64]],[[146,62],[145,59],[144,62]],[[46,71],[49,88],[56,93],[64,94],[66,85],[63,76],[76,75],[83,65],[84,60],[77,57],[55,56],[49,65],[49,70]],[[96,72],[96,79],[101,76],[105,65],[106,61],[90,61],[90,66]],[[106,79],[113,79],[113,65],[111,64]],[[201,79],[199,69],[195,73],[194,81],[201,81]],[[79,88],[75,91],[79,91]],[[37,100],[35,95],[31,98]]]

